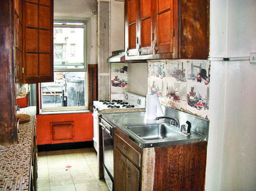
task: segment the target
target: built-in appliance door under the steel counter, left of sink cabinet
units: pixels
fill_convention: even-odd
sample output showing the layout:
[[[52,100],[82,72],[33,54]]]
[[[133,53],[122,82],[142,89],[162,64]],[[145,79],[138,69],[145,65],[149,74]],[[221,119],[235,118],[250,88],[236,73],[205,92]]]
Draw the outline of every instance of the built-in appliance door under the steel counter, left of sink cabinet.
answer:
[[[101,125],[102,126],[102,125]],[[103,135],[103,167],[104,178],[110,190],[113,189],[114,176],[114,153],[113,153],[113,128],[107,129],[102,126]]]

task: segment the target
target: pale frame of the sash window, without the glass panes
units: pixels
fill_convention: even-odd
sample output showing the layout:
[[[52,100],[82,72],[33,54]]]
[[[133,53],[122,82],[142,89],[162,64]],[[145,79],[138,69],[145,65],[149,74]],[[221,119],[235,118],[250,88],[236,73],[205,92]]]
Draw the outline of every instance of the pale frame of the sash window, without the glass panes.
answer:
[[[56,24],[64,23],[64,24]],[[67,24],[68,23],[68,24]],[[82,25],[72,25],[71,23],[83,23]],[[90,19],[65,19],[57,18],[53,21],[53,30],[55,27],[76,27],[84,29],[84,68],[55,68],[53,61],[53,73],[56,72],[84,72],[84,96],[85,96],[85,105],[83,106],[72,106],[72,107],[52,107],[52,108],[41,108],[42,112],[55,112],[55,111],[79,111],[79,110],[88,110],[89,109],[89,97],[87,89],[87,65],[90,63]],[[42,91],[42,89],[41,89]],[[42,95],[42,93],[41,93]],[[43,95],[42,95],[43,96]],[[42,98],[41,98],[42,99]],[[41,100],[42,102],[42,100]]]

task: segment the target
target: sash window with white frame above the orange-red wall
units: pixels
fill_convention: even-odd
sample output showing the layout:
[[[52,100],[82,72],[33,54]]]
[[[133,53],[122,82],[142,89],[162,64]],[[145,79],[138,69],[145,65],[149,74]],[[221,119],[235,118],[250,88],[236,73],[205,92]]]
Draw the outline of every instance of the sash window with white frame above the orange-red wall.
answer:
[[[54,82],[41,83],[42,111],[87,109],[87,21],[55,21]]]

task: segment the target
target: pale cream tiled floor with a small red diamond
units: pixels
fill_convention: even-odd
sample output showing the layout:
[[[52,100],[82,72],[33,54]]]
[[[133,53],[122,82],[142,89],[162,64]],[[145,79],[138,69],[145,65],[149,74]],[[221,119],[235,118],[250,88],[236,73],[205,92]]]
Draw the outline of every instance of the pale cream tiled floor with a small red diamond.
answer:
[[[38,152],[38,190],[109,190],[98,179],[94,148]]]

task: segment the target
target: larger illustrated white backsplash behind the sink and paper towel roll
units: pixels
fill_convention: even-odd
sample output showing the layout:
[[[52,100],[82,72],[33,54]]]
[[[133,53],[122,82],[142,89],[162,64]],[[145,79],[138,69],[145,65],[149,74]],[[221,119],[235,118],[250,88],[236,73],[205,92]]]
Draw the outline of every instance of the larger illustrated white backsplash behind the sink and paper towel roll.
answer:
[[[148,94],[161,105],[207,118],[210,62],[207,60],[154,60],[148,63]]]

